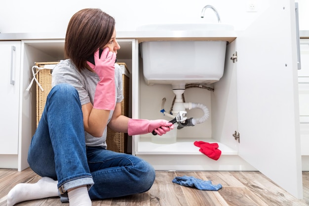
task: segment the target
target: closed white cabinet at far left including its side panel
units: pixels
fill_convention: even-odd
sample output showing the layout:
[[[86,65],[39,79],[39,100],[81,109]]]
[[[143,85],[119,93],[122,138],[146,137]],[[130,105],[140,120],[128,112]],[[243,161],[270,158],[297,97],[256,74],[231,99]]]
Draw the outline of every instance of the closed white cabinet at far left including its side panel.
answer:
[[[36,94],[26,92],[32,78],[31,68],[23,67],[32,61],[27,52],[22,40],[0,41],[0,168],[18,171],[29,167],[28,148],[36,125],[32,116]]]

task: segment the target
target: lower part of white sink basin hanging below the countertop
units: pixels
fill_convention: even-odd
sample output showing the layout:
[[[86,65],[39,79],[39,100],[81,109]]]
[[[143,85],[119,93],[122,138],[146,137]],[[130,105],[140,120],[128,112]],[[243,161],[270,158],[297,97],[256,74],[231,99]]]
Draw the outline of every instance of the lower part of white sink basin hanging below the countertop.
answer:
[[[226,41],[146,41],[141,43],[148,85],[206,83],[223,76]]]

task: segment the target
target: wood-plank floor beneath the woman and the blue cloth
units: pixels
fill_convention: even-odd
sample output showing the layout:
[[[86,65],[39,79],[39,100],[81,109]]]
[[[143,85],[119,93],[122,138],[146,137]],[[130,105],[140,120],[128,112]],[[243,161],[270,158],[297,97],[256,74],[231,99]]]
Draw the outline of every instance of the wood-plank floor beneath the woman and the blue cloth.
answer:
[[[219,191],[202,191],[172,183],[175,176],[194,176],[222,184]],[[17,183],[39,180],[31,169],[17,172],[0,169],[0,206]],[[288,180],[288,179],[287,179]],[[260,172],[163,172],[157,171],[154,185],[142,194],[96,200],[93,206],[309,206],[309,172],[303,172],[304,199],[298,200]],[[17,206],[69,206],[60,199],[27,201]]]

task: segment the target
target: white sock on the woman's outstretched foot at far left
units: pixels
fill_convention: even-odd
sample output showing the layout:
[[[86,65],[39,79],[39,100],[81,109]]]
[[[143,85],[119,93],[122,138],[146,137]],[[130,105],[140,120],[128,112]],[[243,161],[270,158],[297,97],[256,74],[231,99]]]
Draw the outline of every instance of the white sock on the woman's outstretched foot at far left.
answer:
[[[58,196],[58,181],[42,177],[37,183],[20,183],[15,185],[7,194],[7,206],[13,206],[28,200]]]

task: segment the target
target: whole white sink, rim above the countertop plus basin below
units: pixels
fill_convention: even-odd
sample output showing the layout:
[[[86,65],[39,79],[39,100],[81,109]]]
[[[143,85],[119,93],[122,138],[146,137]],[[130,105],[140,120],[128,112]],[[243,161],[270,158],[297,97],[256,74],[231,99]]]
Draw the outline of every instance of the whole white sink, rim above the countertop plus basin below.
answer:
[[[227,43],[235,36],[233,26],[222,23],[152,24],[137,30],[172,37],[141,43],[143,74],[149,85],[219,81]]]

